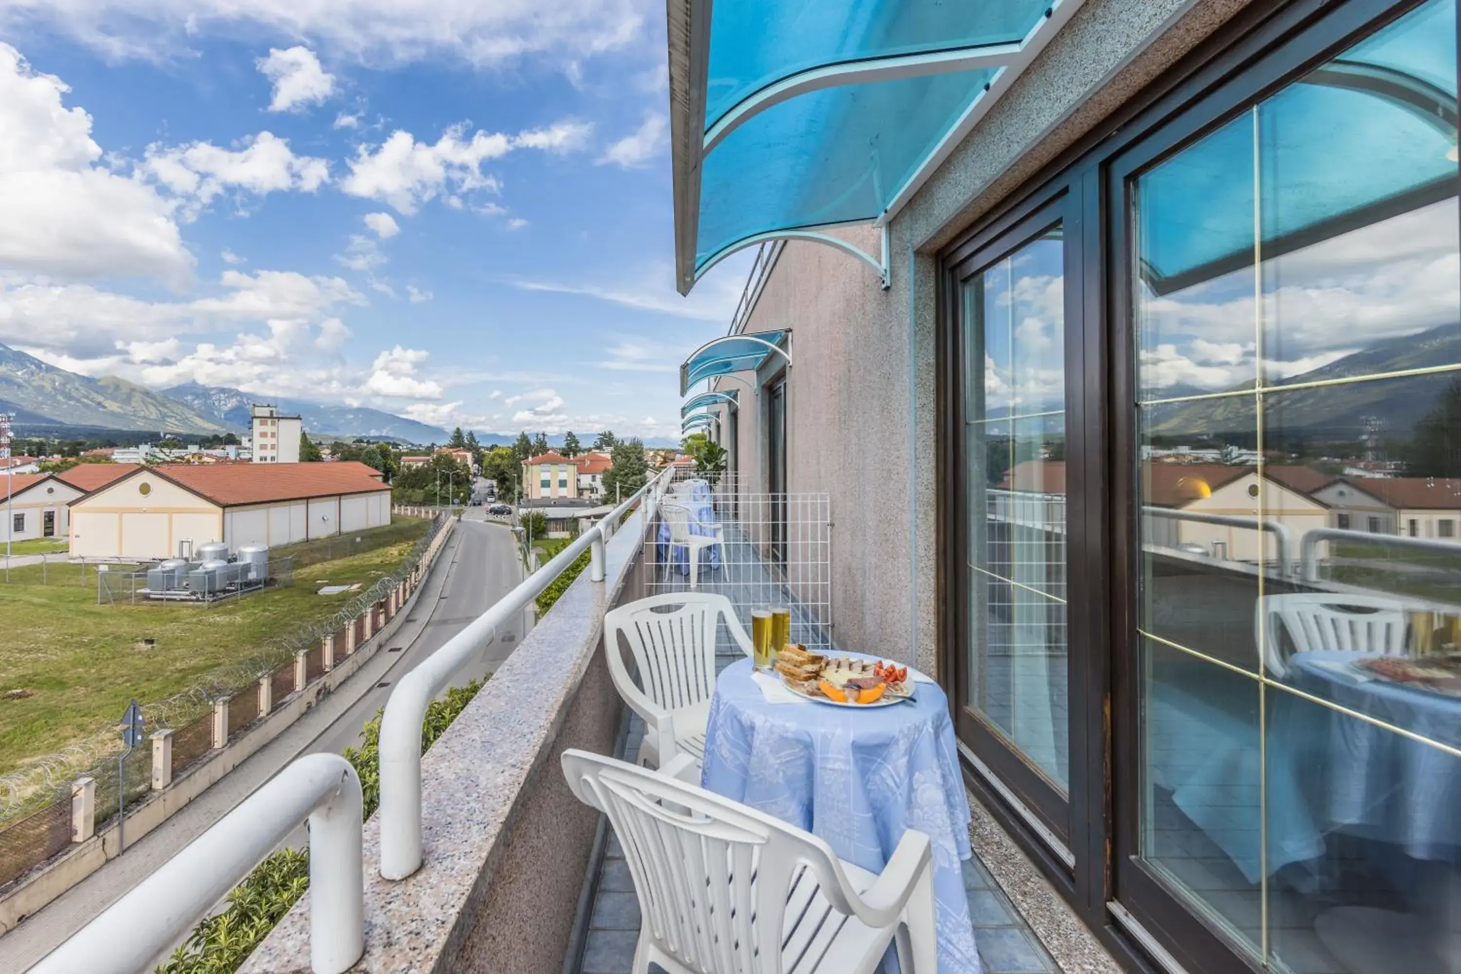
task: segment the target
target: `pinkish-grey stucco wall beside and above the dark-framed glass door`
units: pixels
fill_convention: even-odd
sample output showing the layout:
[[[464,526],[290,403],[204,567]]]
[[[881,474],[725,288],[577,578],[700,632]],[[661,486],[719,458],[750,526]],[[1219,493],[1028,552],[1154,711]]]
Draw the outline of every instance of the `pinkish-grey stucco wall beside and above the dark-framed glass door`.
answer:
[[[935,253],[1248,1],[1087,0],[893,221],[890,291],[831,248],[783,248],[747,330],[793,330],[789,480],[831,494],[843,647],[935,670]],[[761,397],[741,396],[738,470],[766,489]]]

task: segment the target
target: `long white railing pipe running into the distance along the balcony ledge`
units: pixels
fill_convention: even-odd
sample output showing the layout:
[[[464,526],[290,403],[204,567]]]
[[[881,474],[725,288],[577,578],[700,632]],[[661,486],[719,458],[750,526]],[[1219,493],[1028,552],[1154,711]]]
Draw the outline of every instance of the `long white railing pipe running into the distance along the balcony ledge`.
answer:
[[[608,517],[576,537],[546,565],[498,599],[396,683],[380,720],[380,875],[383,878],[405,879],[421,869],[421,724],[427,717],[427,707],[478,650],[497,638],[503,624],[526,609],[527,603],[552,584],[586,549],[592,552],[589,577],[602,581],[603,543],[612,536],[614,526],[624,513],[640,498],[649,496],[662,478],[663,475],[652,478]]]

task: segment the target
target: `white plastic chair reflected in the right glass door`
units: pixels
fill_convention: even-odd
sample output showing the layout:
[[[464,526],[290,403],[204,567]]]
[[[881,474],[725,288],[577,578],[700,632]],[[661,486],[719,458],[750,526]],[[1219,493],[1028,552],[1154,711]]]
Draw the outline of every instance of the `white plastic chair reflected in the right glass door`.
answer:
[[[1264,597],[1258,603],[1254,635],[1261,637],[1264,666],[1280,679],[1289,672],[1289,653],[1280,638],[1283,632],[1289,632],[1294,653],[1410,654],[1404,605],[1381,596],[1297,591]]]

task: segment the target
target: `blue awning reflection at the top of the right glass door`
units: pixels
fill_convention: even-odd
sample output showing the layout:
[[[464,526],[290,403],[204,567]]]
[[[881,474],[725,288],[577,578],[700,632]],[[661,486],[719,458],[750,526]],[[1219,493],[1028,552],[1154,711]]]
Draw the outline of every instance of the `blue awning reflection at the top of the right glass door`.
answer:
[[[1141,222],[1145,283],[1170,294],[1252,266],[1255,241],[1267,260],[1455,196],[1455,48],[1454,4],[1429,4],[1143,175],[1138,209],[1161,215]]]

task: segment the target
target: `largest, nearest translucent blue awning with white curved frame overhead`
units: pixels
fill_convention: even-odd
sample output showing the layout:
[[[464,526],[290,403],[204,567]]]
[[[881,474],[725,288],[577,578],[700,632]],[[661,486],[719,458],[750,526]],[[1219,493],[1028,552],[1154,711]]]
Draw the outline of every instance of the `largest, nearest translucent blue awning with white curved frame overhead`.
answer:
[[[1080,3],[672,0],[681,292],[761,239],[890,219]]]

